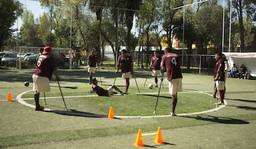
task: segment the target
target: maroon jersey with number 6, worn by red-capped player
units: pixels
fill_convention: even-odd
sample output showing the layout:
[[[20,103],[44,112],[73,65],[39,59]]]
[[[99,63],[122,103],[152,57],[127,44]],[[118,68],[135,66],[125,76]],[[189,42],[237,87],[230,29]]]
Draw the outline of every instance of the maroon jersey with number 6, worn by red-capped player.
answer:
[[[34,74],[41,77],[48,77],[51,80],[54,69],[56,69],[56,65],[53,56],[41,54],[36,62]]]

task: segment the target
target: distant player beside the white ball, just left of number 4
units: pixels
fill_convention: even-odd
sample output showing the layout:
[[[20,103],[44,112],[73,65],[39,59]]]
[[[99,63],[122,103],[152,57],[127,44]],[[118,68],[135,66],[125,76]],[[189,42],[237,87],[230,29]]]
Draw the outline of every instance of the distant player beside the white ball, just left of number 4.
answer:
[[[161,75],[161,56],[158,55],[158,51],[154,51],[154,56],[151,57],[150,67],[153,66],[152,76],[155,77],[155,87],[158,87],[158,76]]]

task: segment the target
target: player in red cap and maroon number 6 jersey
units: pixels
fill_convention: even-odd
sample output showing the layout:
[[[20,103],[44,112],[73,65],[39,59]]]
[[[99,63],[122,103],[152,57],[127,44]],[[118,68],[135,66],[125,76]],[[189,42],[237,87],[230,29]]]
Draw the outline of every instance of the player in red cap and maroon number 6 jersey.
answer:
[[[36,111],[43,111],[44,109],[39,104],[40,92],[50,92],[49,80],[51,80],[53,74],[59,80],[58,69],[52,56],[52,49],[46,46],[36,62],[36,68],[32,76]]]

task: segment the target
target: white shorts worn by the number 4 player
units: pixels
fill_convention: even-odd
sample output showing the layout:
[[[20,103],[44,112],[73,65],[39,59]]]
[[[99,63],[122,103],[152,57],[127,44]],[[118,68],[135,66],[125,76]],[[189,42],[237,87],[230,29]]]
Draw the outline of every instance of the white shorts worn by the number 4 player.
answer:
[[[182,92],[182,79],[169,80],[169,93],[171,95],[177,95],[177,92]]]

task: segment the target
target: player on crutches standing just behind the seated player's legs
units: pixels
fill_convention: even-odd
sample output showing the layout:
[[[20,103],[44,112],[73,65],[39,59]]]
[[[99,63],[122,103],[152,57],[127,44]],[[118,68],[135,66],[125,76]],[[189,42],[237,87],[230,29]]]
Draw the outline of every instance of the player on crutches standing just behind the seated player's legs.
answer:
[[[124,93],[127,93],[130,85],[130,78],[132,77],[132,74],[134,74],[134,62],[132,56],[127,54],[126,49],[122,49],[121,56],[117,59],[116,73],[119,71],[119,66],[121,66],[122,78],[126,79],[126,91]]]

